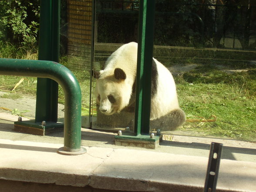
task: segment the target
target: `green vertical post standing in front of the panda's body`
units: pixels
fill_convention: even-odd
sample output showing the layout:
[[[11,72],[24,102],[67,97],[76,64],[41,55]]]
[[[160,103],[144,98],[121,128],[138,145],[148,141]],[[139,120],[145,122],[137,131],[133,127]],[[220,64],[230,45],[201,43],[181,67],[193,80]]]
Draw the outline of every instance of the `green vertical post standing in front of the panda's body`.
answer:
[[[140,0],[135,134],[149,133],[155,0]]]

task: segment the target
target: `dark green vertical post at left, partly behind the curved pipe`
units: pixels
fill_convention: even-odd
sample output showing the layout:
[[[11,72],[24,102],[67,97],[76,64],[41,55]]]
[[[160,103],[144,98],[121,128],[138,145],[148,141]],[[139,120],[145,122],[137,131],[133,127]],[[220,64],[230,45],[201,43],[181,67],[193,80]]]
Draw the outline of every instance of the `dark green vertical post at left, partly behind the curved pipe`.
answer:
[[[41,0],[38,60],[59,60],[60,0]],[[57,122],[58,84],[37,78],[35,122]]]

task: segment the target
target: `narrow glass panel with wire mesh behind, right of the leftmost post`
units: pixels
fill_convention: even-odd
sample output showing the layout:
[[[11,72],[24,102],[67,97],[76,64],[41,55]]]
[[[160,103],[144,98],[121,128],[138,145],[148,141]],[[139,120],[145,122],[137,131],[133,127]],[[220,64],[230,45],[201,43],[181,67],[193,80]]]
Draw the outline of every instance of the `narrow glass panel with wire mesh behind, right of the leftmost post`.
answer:
[[[82,127],[90,127],[91,0],[61,1],[60,63],[77,77],[82,91]],[[64,93],[59,90],[59,103]],[[64,121],[63,118],[59,121]]]

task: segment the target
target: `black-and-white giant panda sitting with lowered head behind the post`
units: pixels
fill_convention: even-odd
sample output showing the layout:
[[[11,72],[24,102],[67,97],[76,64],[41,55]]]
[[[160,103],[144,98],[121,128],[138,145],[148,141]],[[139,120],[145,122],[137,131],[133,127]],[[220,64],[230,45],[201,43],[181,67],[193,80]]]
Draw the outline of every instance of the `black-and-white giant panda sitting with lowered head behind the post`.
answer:
[[[135,106],[137,47],[135,42],[122,45],[108,57],[104,70],[93,71],[97,79],[94,96],[102,114],[113,115]],[[184,121],[172,74],[153,58],[150,126],[172,131]]]

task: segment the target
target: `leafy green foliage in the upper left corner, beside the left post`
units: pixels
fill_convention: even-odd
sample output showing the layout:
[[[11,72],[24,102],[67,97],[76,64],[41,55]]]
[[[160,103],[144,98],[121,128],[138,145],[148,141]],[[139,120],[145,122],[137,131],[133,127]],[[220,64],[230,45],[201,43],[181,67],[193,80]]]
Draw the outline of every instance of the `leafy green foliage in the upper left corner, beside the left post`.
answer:
[[[39,1],[0,0],[0,41],[33,46],[38,28]]]

